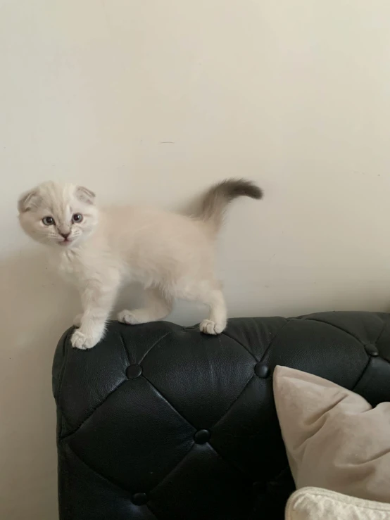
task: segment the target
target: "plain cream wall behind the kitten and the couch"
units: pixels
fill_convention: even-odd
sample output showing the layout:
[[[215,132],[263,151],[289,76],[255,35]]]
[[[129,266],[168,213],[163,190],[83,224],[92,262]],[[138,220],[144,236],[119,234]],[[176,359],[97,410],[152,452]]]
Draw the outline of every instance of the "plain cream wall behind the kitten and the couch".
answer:
[[[51,359],[78,309],[20,191],[176,207],[251,177],[265,199],[220,243],[229,315],[389,307],[389,1],[0,0],[0,70],[1,519],[56,519]]]

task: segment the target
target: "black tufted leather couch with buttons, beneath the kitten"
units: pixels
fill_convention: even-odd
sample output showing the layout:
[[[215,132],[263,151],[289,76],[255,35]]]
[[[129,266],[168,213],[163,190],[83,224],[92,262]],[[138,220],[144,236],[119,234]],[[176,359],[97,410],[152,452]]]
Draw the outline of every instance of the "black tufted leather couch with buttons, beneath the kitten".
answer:
[[[53,369],[61,520],[283,519],[275,365],[390,400],[384,313],[231,319],[220,336],[112,322],[87,351],[71,332]]]

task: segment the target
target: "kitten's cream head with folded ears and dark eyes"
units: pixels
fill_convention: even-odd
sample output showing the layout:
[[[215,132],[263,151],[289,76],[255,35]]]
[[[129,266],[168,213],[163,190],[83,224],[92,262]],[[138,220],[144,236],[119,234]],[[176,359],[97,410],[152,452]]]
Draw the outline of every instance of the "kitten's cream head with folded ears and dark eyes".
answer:
[[[44,182],[20,196],[20,225],[37,242],[63,248],[79,245],[98,223],[94,198],[82,186]]]

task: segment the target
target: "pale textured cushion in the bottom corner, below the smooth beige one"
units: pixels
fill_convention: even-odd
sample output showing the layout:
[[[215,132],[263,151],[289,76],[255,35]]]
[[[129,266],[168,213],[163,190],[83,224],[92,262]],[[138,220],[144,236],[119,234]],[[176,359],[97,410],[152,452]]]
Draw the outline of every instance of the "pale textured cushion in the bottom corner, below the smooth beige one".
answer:
[[[389,520],[390,504],[348,497],[320,488],[302,488],[291,495],[286,520]]]

